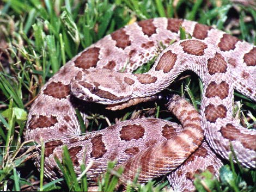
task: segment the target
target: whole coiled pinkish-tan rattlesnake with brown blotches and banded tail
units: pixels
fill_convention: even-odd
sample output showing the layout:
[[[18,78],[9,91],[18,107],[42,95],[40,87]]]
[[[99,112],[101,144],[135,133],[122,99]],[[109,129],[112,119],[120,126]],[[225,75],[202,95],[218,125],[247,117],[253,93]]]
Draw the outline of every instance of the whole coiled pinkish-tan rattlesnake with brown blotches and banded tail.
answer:
[[[179,41],[180,25],[192,39]],[[160,41],[167,45],[171,39],[178,42],[164,49],[149,72],[130,73],[155,56]],[[125,168],[123,182],[133,179],[139,168],[139,182],[167,174],[203,140],[199,116],[184,100],[174,96],[168,103],[183,130],[163,120],[142,119],[78,136],[80,125],[72,98],[74,95],[81,100],[129,106],[131,101],[163,90],[182,71],[191,70],[204,85],[200,118],[206,140],[227,159],[231,143],[241,164],[255,168],[256,133],[241,127],[232,116],[233,88],[256,100],[255,58],[255,46],[197,22],[154,18],[133,23],[79,53],[45,84],[30,110],[26,139],[39,141],[42,137],[46,141],[45,172],[50,178],[59,177],[53,156],[61,157],[64,144],[68,145],[77,172],[79,164],[94,160],[87,173],[89,179],[97,177],[106,169],[106,162],[114,159]],[[124,66],[125,73],[117,72]],[[153,128],[156,132],[152,132]],[[188,181],[192,176],[188,175],[200,168],[216,173],[220,166],[220,160],[203,142],[169,179],[176,189],[194,190]]]

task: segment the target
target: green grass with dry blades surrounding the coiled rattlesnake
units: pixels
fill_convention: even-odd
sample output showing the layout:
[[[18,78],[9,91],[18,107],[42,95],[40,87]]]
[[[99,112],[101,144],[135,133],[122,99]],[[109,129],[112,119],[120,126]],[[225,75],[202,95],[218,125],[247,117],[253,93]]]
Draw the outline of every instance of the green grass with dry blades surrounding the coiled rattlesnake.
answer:
[[[58,71],[59,67],[82,49],[115,29],[134,21],[166,16],[187,18],[214,25],[252,44],[256,44],[256,11],[252,7],[231,4],[228,1],[160,1],[160,0],[4,0],[0,2],[0,190],[86,190],[86,175],[74,175],[65,152],[66,162],[59,163],[64,178],[48,181],[35,171],[31,159],[32,148],[23,143],[27,113],[40,88]],[[141,67],[144,72],[150,65]],[[186,77],[186,78],[185,78]],[[190,98],[195,107],[200,105],[202,84],[191,73],[185,73],[170,87]],[[254,102],[235,92],[234,114],[243,124],[255,128]],[[141,105],[142,106],[142,105]],[[155,116],[166,117],[160,106]],[[241,114],[241,113],[242,114]],[[249,118],[247,119],[247,114]],[[240,115],[241,114],[241,115]],[[114,117],[90,114],[86,130],[95,130],[114,123]],[[118,115],[120,120],[150,116],[152,109],[142,107],[138,112],[127,109]],[[166,119],[171,119],[166,117]],[[113,190],[117,177],[109,172],[102,176],[100,188]],[[81,170],[86,168],[81,166]],[[120,173],[119,173],[120,174]],[[255,191],[256,172],[227,164],[221,169],[221,182],[212,180],[209,173],[195,181],[198,191]],[[79,181],[79,182],[78,182]],[[146,185],[133,184],[130,191],[161,191],[168,189],[166,180],[150,181]],[[61,184],[59,182],[62,182]],[[65,184],[66,183],[66,184]],[[72,184],[70,184],[72,183]],[[167,186],[166,186],[167,185]],[[205,187],[206,185],[206,187]],[[166,187],[164,187],[166,186]]]

